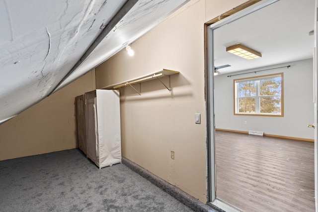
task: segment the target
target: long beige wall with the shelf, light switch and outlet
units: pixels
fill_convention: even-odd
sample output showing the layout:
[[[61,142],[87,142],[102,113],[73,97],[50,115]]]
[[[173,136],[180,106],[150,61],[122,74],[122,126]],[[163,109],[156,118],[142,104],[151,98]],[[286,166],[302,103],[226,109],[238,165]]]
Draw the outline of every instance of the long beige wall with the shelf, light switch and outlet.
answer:
[[[171,76],[171,93],[158,80],[142,83],[141,96],[130,87],[121,89],[122,154],[202,202],[207,190],[204,23],[245,1],[192,0],[132,43],[134,57],[122,51],[96,69],[97,88],[162,69],[180,71]],[[201,124],[195,124],[195,113],[201,113]]]

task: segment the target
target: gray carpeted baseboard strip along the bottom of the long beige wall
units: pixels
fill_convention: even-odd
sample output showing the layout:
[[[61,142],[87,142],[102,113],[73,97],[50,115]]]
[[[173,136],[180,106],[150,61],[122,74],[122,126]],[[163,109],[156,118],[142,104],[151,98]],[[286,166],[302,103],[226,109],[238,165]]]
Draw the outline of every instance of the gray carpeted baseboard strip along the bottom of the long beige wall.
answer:
[[[216,206],[208,206],[200,202],[199,200],[185,193],[178,187],[169,184],[168,182],[162,180],[150,171],[144,169],[143,167],[125,157],[122,157],[122,163],[195,212],[223,212]]]

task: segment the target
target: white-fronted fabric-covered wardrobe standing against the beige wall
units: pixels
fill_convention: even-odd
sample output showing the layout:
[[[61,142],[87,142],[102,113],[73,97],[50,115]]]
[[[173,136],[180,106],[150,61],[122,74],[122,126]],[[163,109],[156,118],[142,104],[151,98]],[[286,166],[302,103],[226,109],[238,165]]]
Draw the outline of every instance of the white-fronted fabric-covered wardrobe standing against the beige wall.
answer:
[[[86,113],[89,117],[85,118],[91,120],[88,121],[90,124],[94,122],[94,129],[90,128],[88,133],[91,137],[86,141],[87,157],[102,168],[121,162],[119,92],[96,90],[96,96],[92,107],[87,107],[91,99],[86,101],[90,112]]]

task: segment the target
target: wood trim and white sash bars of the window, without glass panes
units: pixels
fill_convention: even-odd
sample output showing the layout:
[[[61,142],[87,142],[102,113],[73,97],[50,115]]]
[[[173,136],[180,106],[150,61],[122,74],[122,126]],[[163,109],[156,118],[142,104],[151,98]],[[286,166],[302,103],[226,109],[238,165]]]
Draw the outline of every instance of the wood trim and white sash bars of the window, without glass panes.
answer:
[[[259,99],[261,97],[267,97],[267,96],[277,96],[277,95],[264,95],[264,96],[260,96],[260,91],[259,91],[259,84],[256,80],[261,80],[261,79],[266,79],[269,78],[271,76],[279,76],[281,77],[281,114],[275,115],[275,114],[261,114],[256,113],[257,112],[257,106],[256,104],[259,104]],[[233,80],[233,98],[234,98],[234,115],[239,115],[239,116],[273,116],[273,117],[283,117],[284,116],[284,78],[283,78],[284,73],[280,72],[280,73],[272,73],[272,74],[266,74],[266,75],[260,75],[260,76],[251,76],[251,77],[245,77],[245,78],[239,78],[239,79],[234,79]],[[237,81],[244,81],[244,80],[249,80],[249,79],[254,79],[256,81],[256,96],[255,98],[255,113],[239,113],[237,112],[239,110],[238,108],[238,91],[237,91]],[[253,97],[245,97],[245,98],[253,98]],[[260,110],[260,107],[259,107]]]

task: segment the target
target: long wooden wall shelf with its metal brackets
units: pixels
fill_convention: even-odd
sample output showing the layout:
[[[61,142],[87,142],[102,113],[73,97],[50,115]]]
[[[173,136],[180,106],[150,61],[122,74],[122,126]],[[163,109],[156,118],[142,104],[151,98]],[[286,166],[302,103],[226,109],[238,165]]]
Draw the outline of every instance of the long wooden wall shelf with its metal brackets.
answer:
[[[172,71],[172,70],[167,70],[167,69],[162,69],[160,71],[157,71],[157,72],[153,72],[153,73],[150,73],[150,74],[147,74],[147,75],[144,75],[144,76],[140,76],[140,77],[137,77],[137,78],[133,78],[133,79],[129,79],[129,80],[125,80],[123,82],[120,82],[120,83],[116,83],[116,84],[112,84],[112,85],[108,85],[106,87],[103,87],[102,89],[118,89],[120,87],[125,87],[127,85],[134,85],[134,84],[137,84],[137,83],[142,83],[142,82],[146,82],[146,81],[149,81],[149,80],[153,80],[153,79],[159,79],[161,77],[164,77],[164,76],[169,76],[169,80],[170,80],[170,75],[173,75],[173,74],[176,74],[176,73],[179,73],[179,71]],[[160,79],[159,79],[160,80]],[[161,80],[160,82],[169,90],[171,91],[171,88],[168,88]],[[133,86],[132,86],[133,87]],[[134,88],[134,87],[133,87]],[[134,90],[136,92],[138,92],[135,88]],[[140,94],[140,92],[138,92]]]

